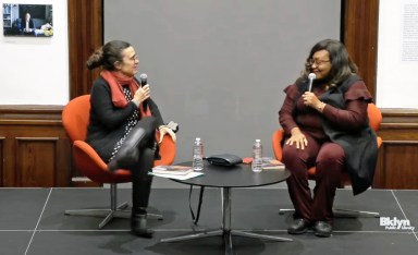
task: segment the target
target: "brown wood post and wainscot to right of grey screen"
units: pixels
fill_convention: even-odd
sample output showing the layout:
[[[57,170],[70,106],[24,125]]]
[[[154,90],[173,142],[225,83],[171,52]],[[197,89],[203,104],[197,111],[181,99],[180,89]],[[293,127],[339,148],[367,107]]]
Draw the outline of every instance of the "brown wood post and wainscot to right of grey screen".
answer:
[[[376,98],[379,0],[345,0],[344,42]],[[383,138],[373,187],[418,189],[418,110],[381,109]]]

